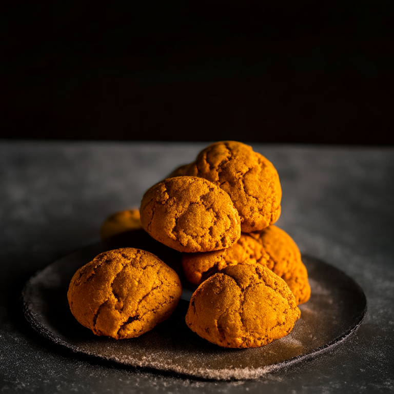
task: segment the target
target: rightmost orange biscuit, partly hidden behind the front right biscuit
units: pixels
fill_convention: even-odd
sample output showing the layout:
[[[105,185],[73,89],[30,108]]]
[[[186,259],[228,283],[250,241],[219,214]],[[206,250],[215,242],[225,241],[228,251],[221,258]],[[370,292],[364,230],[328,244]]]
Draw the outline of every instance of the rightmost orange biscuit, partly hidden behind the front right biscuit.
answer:
[[[269,255],[267,267],[281,277],[290,287],[299,304],[310,297],[308,273],[301,261],[298,246],[287,232],[277,226],[249,233]]]

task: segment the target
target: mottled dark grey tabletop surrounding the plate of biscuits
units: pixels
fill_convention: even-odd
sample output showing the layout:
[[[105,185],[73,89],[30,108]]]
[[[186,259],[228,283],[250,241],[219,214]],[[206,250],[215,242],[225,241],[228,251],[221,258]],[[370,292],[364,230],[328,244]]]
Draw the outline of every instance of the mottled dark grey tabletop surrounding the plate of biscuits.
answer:
[[[0,146],[0,384],[3,392],[390,392],[394,390],[394,151],[253,145],[277,167],[278,225],[302,252],[350,275],[368,312],[332,351],[259,380],[209,382],[132,370],[52,344],[25,321],[29,275],[99,239],[108,214],[206,144]]]

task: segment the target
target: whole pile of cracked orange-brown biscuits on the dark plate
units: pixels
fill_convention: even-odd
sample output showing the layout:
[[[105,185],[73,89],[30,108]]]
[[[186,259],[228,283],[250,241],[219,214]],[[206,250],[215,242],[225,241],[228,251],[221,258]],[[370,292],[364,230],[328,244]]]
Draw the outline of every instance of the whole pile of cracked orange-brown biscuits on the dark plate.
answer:
[[[194,162],[175,169],[144,194],[140,208],[142,227],[156,241],[182,252],[186,278],[198,286],[189,303],[186,323],[200,337],[223,347],[257,347],[286,336],[300,318],[298,305],[308,301],[310,287],[297,245],[285,231],[273,225],[281,213],[281,196],[274,166],[250,146],[235,141],[209,145]],[[103,226],[102,234],[116,231],[116,221],[126,228],[124,218],[132,218],[130,228],[137,226],[136,214],[119,213]],[[144,264],[153,264],[154,255],[145,258],[147,263],[140,255],[139,264],[135,264],[136,249],[126,251],[128,263],[125,259],[122,263],[122,250],[106,252],[115,253],[118,264],[116,272],[105,278],[107,285],[119,278],[127,264],[136,266],[139,281],[143,278]],[[102,266],[110,270],[103,263],[110,261],[110,256],[102,255],[96,258],[101,265],[89,263],[92,266],[87,274],[77,271],[70,284],[70,308],[82,324],[78,312],[73,310],[78,298],[73,294],[80,288],[76,283],[81,278],[89,283],[92,272],[100,271]],[[160,264],[155,261],[154,266],[156,272]],[[94,314],[95,306],[90,307],[93,310],[89,312],[90,326],[84,325],[96,334],[130,338],[166,319],[178,303],[182,287],[176,273],[164,266],[157,271],[157,280],[149,284],[152,291],[161,294],[160,306],[168,306],[162,308],[160,318],[142,324],[141,313],[132,309],[134,304],[139,307],[141,300],[138,297],[132,300],[130,289],[123,291],[126,298],[116,297],[115,292],[113,300],[111,291],[103,290],[100,302],[106,299],[105,303],[111,303],[105,324],[97,328],[102,313],[97,310]],[[160,270],[166,272],[165,281]],[[135,282],[135,286],[137,289],[139,283]],[[137,290],[134,292],[138,293]],[[93,290],[90,296],[96,297]],[[125,302],[131,309],[121,316]],[[105,308],[105,303],[99,309]],[[156,316],[149,314],[149,308],[157,308],[152,305],[146,306],[144,317]],[[112,324],[112,331],[105,328],[106,324]]]

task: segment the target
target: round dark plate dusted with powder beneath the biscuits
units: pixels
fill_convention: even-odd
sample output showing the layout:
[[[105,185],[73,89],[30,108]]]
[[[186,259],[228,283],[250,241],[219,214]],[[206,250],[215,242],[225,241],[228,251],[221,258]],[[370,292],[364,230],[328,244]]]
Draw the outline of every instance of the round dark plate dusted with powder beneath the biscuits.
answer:
[[[360,325],[365,311],[363,290],[342,271],[303,255],[312,289],[300,305],[301,318],[288,336],[252,349],[228,349],[207,342],[185,323],[191,291],[184,278],[183,299],[172,316],[139,338],[96,337],[72,316],[67,289],[74,272],[95,255],[118,247],[151,251],[182,274],[180,253],[133,231],[76,251],[27,282],[23,291],[25,316],[44,337],[75,352],[134,367],[148,367],[207,379],[258,378],[273,369],[300,362],[337,345]]]

